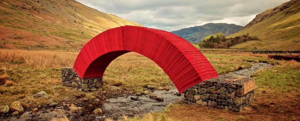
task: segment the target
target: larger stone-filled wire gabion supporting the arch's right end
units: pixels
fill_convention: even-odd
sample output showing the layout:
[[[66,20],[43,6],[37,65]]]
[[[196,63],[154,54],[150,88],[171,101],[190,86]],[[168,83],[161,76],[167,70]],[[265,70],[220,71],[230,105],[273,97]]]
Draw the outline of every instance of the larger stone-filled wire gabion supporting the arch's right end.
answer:
[[[183,94],[188,103],[240,111],[253,102],[254,89],[252,78],[220,75],[188,88]]]

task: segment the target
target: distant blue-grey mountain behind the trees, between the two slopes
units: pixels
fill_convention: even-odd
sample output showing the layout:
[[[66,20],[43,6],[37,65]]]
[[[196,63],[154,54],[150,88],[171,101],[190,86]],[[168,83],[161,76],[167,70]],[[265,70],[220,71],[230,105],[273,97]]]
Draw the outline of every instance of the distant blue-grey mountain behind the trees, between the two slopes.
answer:
[[[181,36],[192,43],[201,42],[205,36],[222,32],[225,36],[229,36],[237,31],[240,31],[243,26],[227,23],[207,23],[202,26],[184,28],[178,31],[171,31],[173,34]]]

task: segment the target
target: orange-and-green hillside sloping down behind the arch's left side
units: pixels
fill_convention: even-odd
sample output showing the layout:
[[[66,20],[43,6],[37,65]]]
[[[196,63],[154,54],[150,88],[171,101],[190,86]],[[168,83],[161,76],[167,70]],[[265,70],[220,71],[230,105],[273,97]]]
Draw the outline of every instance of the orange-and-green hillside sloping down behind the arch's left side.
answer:
[[[74,0],[0,0],[0,48],[79,50],[124,25],[141,26]]]

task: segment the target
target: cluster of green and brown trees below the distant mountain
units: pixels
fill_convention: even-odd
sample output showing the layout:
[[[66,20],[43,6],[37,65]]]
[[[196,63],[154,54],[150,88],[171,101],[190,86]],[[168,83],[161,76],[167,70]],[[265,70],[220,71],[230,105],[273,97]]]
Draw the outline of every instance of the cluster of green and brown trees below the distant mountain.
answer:
[[[242,43],[245,41],[259,40],[257,36],[250,36],[249,33],[242,36],[236,36],[231,38],[225,38],[223,33],[217,33],[215,35],[206,36],[199,44],[200,48],[228,48],[230,46]]]

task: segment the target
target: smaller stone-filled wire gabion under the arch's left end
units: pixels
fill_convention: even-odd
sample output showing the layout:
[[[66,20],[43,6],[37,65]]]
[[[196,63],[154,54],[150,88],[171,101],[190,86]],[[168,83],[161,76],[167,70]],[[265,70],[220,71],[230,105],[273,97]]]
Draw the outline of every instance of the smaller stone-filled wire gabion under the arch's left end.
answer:
[[[62,68],[62,84],[63,86],[80,88],[82,90],[89,88],[97,88],[103,86],[103,78],[85,78],[82,79],[73,69],[73,67]]]

